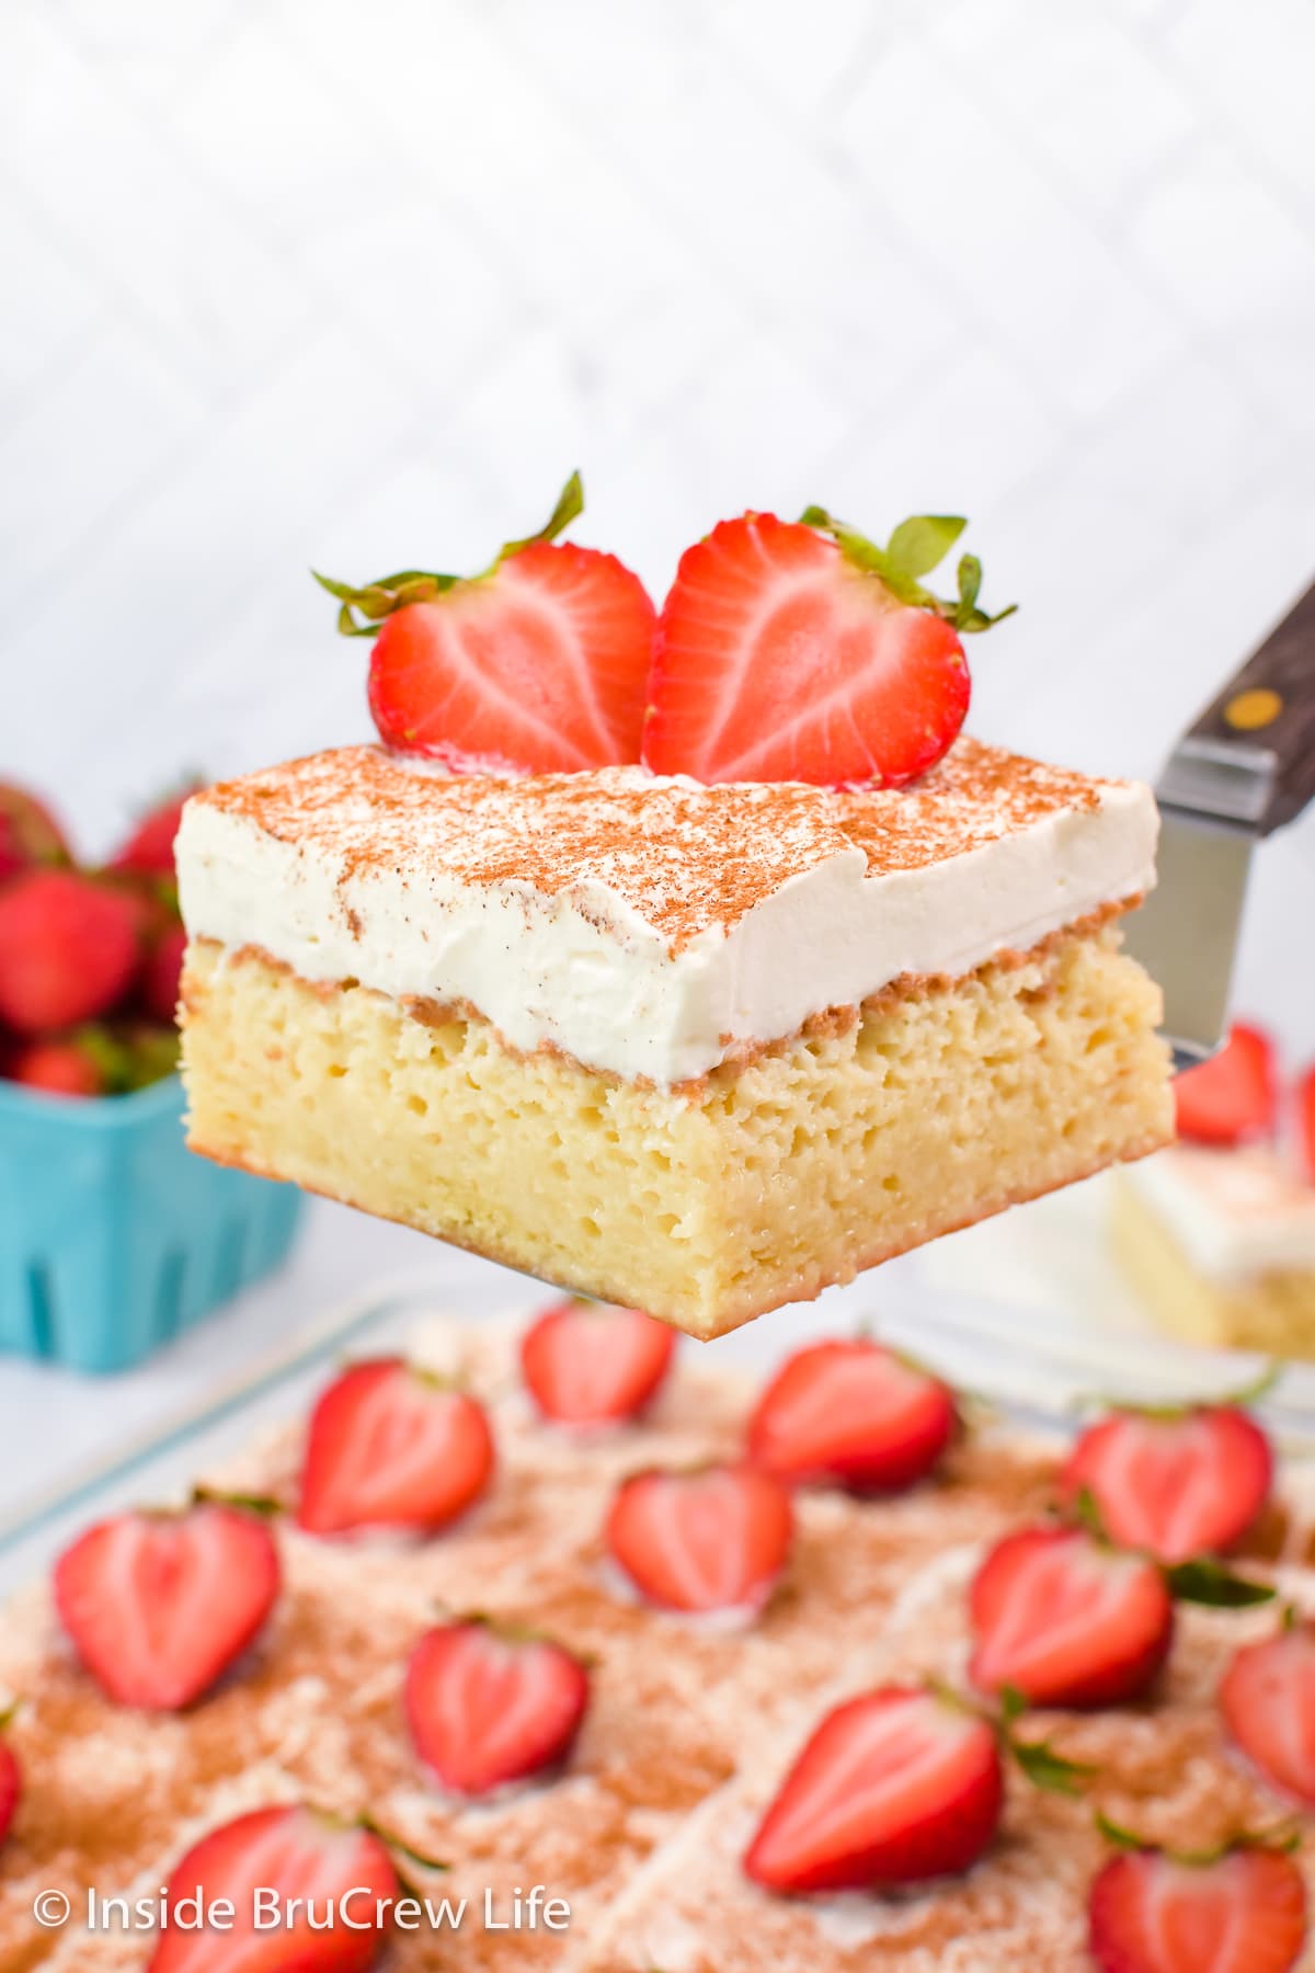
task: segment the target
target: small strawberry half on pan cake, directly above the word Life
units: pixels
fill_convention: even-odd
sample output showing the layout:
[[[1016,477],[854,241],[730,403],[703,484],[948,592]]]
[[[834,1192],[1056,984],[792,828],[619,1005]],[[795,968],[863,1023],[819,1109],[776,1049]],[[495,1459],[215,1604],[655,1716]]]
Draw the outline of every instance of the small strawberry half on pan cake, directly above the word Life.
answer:
[[[588,1703],[589,1673],[566,1645],[487,1618],[426,1632],[406,1667],[412,1744],[461,1795],[558,1766]]]

